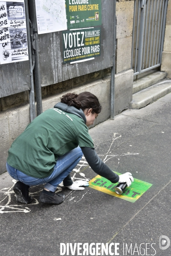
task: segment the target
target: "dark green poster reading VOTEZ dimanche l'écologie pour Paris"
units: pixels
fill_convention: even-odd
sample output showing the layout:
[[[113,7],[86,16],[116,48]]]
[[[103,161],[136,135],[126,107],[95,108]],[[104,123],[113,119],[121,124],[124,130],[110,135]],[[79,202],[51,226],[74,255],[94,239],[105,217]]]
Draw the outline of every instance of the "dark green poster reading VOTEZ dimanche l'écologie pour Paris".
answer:
[[[101,54],[101,27],[63,31],[63,63],[85,61]]]

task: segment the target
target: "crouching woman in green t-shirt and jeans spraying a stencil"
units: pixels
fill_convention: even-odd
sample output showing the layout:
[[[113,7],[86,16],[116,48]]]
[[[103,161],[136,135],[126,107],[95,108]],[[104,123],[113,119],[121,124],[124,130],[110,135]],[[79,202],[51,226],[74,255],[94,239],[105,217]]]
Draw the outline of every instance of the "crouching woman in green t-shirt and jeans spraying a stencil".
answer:
[[[88,126],[101,112],[98,98],[89,92],[67,93],[54,108],[37,116],[9,149],[6,169],[18,180],[14,185],[17,201],[29,204],[29,187],[45,184],[39,202],[61,204],[65,195],[55,193],[63,181],[69,189],[84,189],[86,181],[72,181],[70,172],[84,154],[94,172],[112,183],[133,181],[130,173],[115,174],[96,154]]]

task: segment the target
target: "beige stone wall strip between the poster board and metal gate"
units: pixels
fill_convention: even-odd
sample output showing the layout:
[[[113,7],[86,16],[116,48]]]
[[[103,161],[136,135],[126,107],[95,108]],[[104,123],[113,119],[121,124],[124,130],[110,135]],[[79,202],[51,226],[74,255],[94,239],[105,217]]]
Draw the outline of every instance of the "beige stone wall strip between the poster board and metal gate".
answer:
[[[133,70],[131,70],[134,1],[116,2],[116,87],[115,115],[128,108],[132,101]]]

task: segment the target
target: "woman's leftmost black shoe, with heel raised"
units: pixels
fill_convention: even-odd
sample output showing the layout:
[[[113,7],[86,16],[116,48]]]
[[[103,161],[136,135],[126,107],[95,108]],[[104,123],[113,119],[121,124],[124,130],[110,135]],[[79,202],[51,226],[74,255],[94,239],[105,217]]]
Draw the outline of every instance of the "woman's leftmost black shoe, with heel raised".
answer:
[[[22,183],[21,181],[17,181],[15,183],[14,188],[13,188],[15,194],[16,194],[16,199],[18,202],[22,204],[30,204],[33,200],[31,196],[29,196],[29,186]]]

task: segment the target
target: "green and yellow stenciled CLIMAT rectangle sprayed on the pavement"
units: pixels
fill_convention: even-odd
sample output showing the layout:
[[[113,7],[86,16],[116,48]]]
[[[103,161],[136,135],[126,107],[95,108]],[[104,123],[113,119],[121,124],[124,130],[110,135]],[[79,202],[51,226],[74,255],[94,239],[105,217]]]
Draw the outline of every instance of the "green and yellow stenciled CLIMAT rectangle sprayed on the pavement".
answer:
[[[121,175],[119,172],[115,172],[118,175]],[[92,180],[89,181],[89,186],[92,189],[99,190],[109,195],[116,196],[117,198],[124,199],[126,201],[134,203],[137,199],[139,199],[153,184],[145,182],[143,180],[138,180],[133,178],[134,181],[132,182],[130,187],[127,187],[122,195],[118,195],[115,192],[115,187],[118,183],[111,183],[110,180],[97,175]]]

